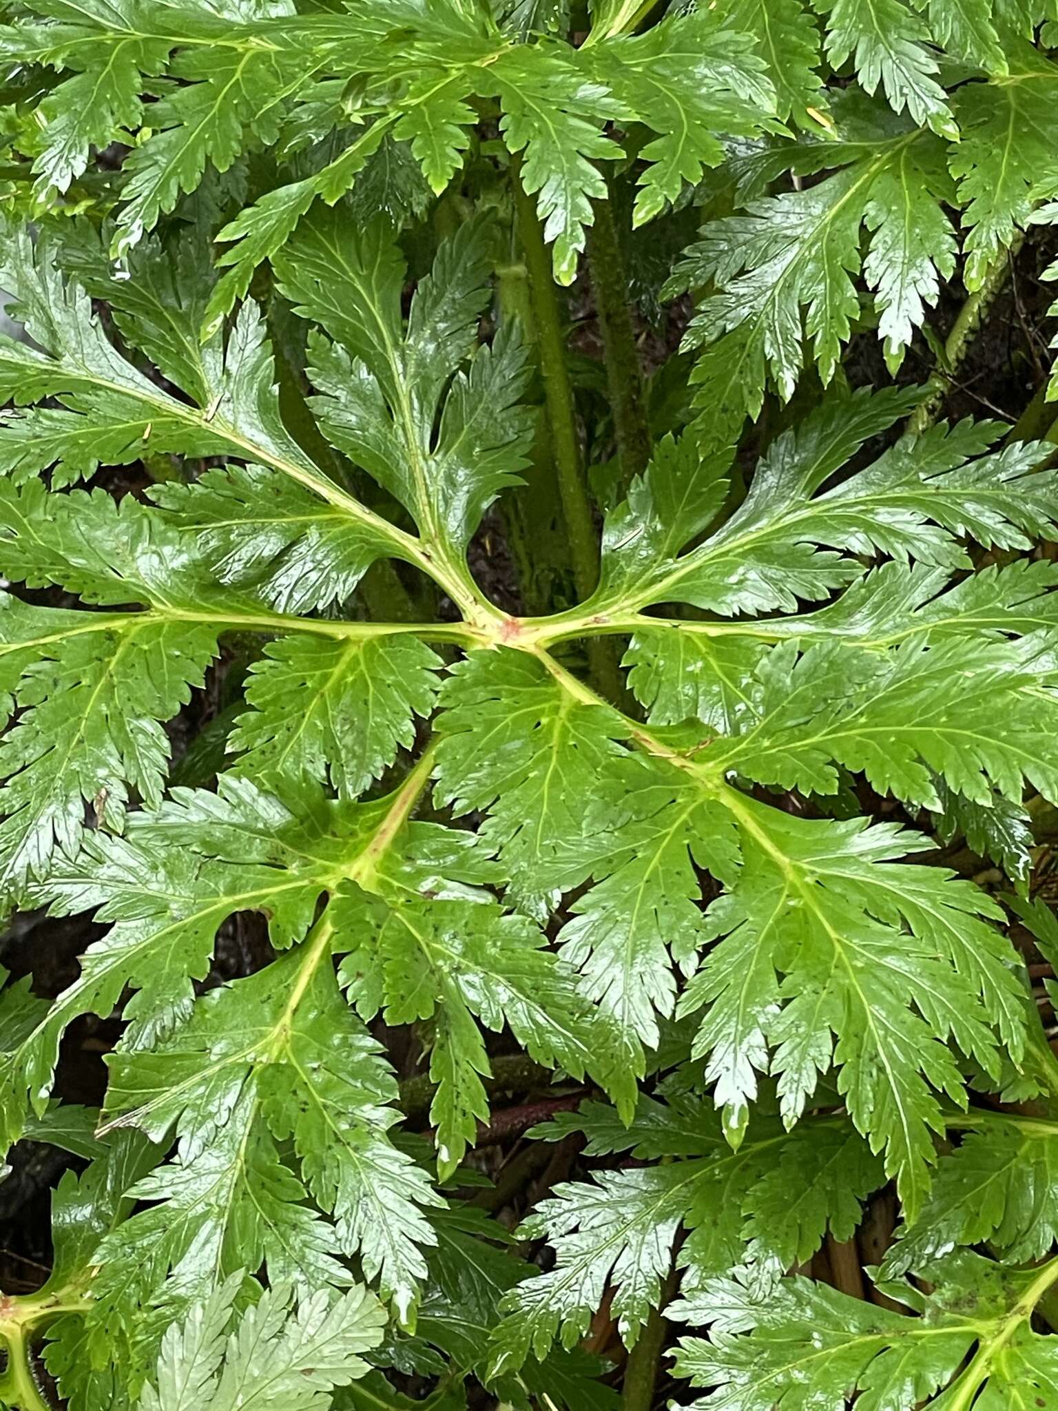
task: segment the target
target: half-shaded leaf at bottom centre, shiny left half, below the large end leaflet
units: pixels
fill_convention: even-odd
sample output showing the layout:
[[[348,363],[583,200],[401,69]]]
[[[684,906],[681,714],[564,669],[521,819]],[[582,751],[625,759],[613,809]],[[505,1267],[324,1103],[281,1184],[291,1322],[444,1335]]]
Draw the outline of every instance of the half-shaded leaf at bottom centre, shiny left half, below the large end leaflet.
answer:
[[[516,1369],[530,1350],[545,1356],[556,1336],[573,1346],[608,1285],[622,1340],[632,1346],[657,1305],[680,1226],[690,1232],[677,1256],[690,1294],[743,1259],[770,1268],[790,1250],[810,1257],[828,1223],[835,1237],[848,1237],[859,1201],[883,1180],[862,1139],[842,1122],[810,1123],[787,1136],[766,1120],[732,1151],[697,1098],[671,1105],[643,1098],[628,1130],[612,1118],[590,1106],[561,1115],[554,1134],[584,1130],[592,1154],[631,1149],[640,1158],[683,1158],[597,1173],[591,1184],[560,1185],[540,1204],[521,1233],[546,1236],[556,1263],[505,1297],[506,1316],[492,1338],[494,1371]],[[780,1202],[779,1173],[782,1215],[770,1219]]]

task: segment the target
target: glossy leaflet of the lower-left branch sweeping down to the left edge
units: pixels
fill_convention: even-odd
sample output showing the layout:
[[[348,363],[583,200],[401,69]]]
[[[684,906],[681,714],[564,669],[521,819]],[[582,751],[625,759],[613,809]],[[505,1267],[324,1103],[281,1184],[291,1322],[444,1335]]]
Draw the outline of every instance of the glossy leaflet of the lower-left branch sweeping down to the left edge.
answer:
[[[23,1095],[42,1110],[58,1040],[73,1017],[107,1016],[126,986],[130,1040],[165,1036],[188,1017],[192,979],[202,979],[217,927],[231,914],[268,914],[276,948],[299,941],[312,924],[334,868],[355,858],[385,817],[374,804],[336,816],[310,790],[286,790],[295,807],[248,780],[224,776],[217,794],[174,790],[158,811],[133,814],[127,837],[86,841],[80,856],[56,862],[30,893],[59,914],[99,907],[110,931],[87,947],[80,975],[24,1033],[4,1062],[4,1115],[14,1132]],[[381,814],[379,814],[381,809]]]

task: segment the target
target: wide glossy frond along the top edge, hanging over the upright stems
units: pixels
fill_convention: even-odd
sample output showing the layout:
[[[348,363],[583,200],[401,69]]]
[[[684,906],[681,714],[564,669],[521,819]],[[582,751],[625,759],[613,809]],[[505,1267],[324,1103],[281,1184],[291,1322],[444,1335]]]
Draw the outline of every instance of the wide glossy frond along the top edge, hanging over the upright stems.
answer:
[[[140,95],[145,80],[158,85],[154,135],[126,168],[116,253],[195,190],[207,162],[223,172],[254,147],[296,151],[334,128],[363,128],[333,161],[268,192],[226,227],[221,238],[238,244],[224,255],[231,271],[214,293],[216,315],[245,292],[255,264],[279,248],[317,198],[333,203],[350,189],[387,134],[408,143],[433,190],[444,190],[470,145],[471,99],[499,103],[504,141],[523,154],[526,189],[554,241],[556,274],[568,282],[591,198],[605,189],[592,159],[619,155],[602,133],[607,120],[646,123],[657,134],[647,150],[642,220],[722,159],[718,131],[773,126],[774,95],[746,38],[701,11],[642,38],[605,37],[581,56],[559,42],[521,45],[509,21],[470,4],[247,14],[234,28],[205,4],[182,11],[178,25],[168,6],[106,4],[61,13],[51,24],[16,24],[4,51],[73,71],[42,109],[47,133],[32,152],[39,195],[66,190],[90,147],[148,126]]]

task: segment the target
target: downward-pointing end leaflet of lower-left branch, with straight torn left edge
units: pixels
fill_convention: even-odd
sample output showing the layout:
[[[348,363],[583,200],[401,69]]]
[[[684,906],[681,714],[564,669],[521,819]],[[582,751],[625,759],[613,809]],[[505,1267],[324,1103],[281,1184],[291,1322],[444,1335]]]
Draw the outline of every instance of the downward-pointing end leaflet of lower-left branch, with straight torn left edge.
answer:
[[[172,1270],[182,1297],[202,1297],[253,1256],[272,1280],[312,1291],[348,1281],[341,1252],[360,1254],[411,1315],[425,1273],[418,1246],[433,1239],[419,1206],[439,1198],[387,1136],[395,1084],[322,964],[329,941],[324,926],[284,961],[214,991],[150,1053],[116,1055],[110,1112],[158,1134],[176,1120],[179,1144],[134,1188],[159,1204],[100,1249],[107,1284],[135,1278],[147,1297]],[[300,1178],[276,1139],[293,1140]]]

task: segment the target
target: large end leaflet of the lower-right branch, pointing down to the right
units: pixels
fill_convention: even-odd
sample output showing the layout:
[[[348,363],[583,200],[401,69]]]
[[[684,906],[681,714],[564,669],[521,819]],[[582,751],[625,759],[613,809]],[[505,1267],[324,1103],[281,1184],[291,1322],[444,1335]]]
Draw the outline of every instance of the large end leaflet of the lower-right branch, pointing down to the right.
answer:
[[[759,1071],[777,1077],[793,1122],[820,1077],[839,1068],[849,1115],[884,1151],[914,1219],[940,1096],[966,1101],[941,1036],[997,1074],[999,1000],[1004,1043],[1024,1050],[1013,957],[983,920],[997,912],[942,869],[890,861],[928,847],[890,825],[789,818],[749,800],[736,816],[742,871],[707,913],[724,940],[680,1000],[680,1013],[710,1006],[693,1051],[708,1060],[734,1140]]]

